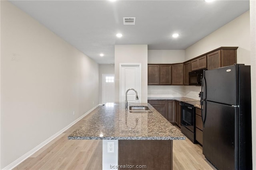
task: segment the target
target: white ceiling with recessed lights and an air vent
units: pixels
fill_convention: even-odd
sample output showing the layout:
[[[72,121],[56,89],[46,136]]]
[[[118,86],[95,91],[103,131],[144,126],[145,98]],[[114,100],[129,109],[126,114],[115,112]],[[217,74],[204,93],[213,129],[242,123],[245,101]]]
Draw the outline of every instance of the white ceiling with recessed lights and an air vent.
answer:
[[[249,10],[249,0],[11,1],[99,64],[114,63],[114,45],[186,49]],[[123,25],[123,17],[136,17]],[[123,37],[117,38],[116,33]],[[179,33],[176,39],[173,33]],[[104,57],[100,57],[104,53]]]

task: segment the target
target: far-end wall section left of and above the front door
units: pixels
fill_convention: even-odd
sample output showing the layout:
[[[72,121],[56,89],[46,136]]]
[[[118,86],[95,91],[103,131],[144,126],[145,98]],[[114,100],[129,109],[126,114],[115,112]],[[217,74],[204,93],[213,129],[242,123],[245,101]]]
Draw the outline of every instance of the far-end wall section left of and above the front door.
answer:
[[[99,65],[99,102],[102,104],[102,74],[115,74],[114,64]]]

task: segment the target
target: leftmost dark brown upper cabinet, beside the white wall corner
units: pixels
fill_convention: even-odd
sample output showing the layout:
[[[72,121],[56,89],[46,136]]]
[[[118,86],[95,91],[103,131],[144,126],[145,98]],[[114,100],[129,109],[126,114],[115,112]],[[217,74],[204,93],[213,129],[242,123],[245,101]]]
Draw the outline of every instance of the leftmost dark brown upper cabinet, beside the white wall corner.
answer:
[[[159,85],[158,64],[148,64],[148,85]]]

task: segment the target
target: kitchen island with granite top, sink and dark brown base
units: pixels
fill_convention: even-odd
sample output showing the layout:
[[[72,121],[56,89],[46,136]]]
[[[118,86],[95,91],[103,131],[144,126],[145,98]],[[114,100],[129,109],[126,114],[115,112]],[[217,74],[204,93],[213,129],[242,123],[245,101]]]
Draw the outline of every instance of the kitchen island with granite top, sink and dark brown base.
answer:
[[[146,165],[147,169],[152,170],[172,169],[172,140],[184,140],[185,136],[150,104],[133,105],[148,106],[152,113],[130,113],[129,106],[125,109],[124,103],[108,103],[100,106],[68,139],[118,140],[114,152],[111,149],[106,153],[108,156],[118,156],[117,164],[111,165],[114,168],[120,168],[120,165]],[[104,163],[104,158],[102,161]]]

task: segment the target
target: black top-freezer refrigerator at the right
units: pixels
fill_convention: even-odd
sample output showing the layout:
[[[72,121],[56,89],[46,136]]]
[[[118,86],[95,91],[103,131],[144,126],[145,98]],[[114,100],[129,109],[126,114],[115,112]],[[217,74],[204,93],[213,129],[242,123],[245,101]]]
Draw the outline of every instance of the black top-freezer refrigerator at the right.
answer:
[[[204,71],[203,154],[219,170],[252,169],[250,79],[244,64]]]

